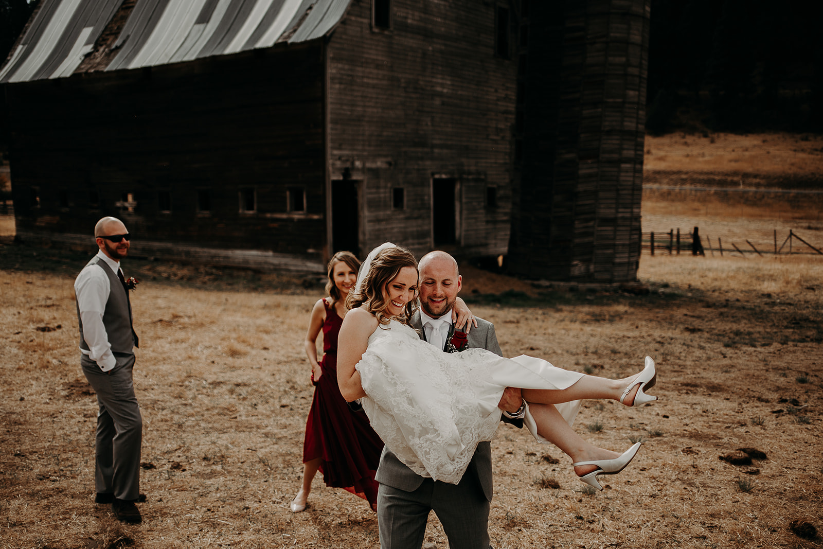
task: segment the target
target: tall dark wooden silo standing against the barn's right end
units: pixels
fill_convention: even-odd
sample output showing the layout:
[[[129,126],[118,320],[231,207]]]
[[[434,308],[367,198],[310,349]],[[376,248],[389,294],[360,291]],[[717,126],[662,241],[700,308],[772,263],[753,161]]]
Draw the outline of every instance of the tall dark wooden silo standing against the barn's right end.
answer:
[[[649,12],[649,0],[523,3],[511,272],[635,280]]]

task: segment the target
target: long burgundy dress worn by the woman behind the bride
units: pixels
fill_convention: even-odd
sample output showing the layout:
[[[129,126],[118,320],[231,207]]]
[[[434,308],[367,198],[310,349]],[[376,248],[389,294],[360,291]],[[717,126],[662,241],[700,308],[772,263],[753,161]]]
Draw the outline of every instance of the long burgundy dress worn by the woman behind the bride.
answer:
[[[380,463],[383,440],[369,424],[365,412],[352,412],[337,386],[337,335],[343,320],[332,305],[323,300],[323,360],[314,388],[314,400],[306,420],[303,463],[320,458],[320,472],[326,486],[350,491],[368,500],[377,509],[374,473]]]

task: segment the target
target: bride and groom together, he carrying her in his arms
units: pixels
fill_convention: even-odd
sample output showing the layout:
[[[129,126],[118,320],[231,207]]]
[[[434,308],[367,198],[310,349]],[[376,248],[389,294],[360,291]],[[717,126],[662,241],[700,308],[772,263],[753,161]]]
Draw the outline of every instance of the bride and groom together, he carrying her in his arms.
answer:
[[[380,546],[419,549],[435,509],[450,547],[486,549],[491,456],[481,446],[494,438],[501,410],[522,407],[535,440],[555,444],[572,458],[581,481],[602,490],[597,475],[623,471],[640,443],[618,454],[580,438],[571,429],[580,400],[642,406],[657,400],[644,392],[657,373],[649,356],[639,374],[621,379],[564,370],[532,356],[504,358],[486,349],[494,341],[500,352],[491,324],[467,337],[468,347],[479,337],[478,348],[442,352],[429,342],[439,340],[439,347],[442,341],[450,351],[467,347],[432,322],[451,309],[462,281],[453,259],[444,271],[430,269],[430,259],[418,268],[409,250],[388,242],[366,258],[340,329],[337,384],[347,402],[361,399],[386,444],[375,477]],[[422,332],[407,323],[418,297],[429,317],[416,323]],[[511,387],[520,388],[514,403]]]

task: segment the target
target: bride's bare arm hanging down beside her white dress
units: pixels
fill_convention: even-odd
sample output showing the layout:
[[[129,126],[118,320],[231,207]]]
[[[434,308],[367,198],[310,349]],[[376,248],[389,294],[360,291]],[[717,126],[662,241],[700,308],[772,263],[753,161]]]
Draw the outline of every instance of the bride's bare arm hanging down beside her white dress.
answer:
[[[369,336],[377,328],[377,319],[365,309],[351,309],[343,318],[337,337],[337,384],[346,402],[365,397],[360,372],[355,365],[369,347]]]

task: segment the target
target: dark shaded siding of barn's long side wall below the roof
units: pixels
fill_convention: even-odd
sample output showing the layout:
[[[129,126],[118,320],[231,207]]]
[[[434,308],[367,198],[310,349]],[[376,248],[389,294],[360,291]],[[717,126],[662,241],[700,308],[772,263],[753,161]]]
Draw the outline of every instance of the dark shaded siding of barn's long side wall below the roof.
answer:
[[[90,235],[113,215],[136,251],[142,240],[322,263],[323,75],[314,43],[6,85],[18,234]],[[240,212],[247,188],[255,209]],[[304,212],[289,211],[289,188],[305,189]]]

